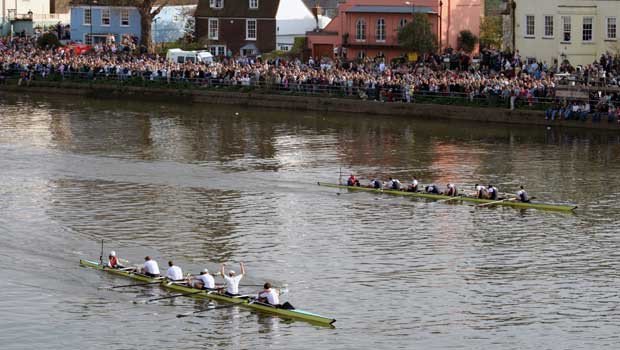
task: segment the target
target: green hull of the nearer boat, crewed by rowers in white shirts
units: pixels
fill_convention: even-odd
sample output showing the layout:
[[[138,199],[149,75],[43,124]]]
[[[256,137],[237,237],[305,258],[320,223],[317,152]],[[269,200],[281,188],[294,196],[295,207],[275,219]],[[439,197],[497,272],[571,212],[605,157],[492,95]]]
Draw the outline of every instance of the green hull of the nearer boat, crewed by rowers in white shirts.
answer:
[[[93,269],[97,269],[97,270],[106,271],[108,273],[118,275],[118,276],[128,277],[128,278],[140,281],[140,282],[149,283],[149,282],[157,282],[160,280],[157,278],[152,278],[152,277],[148,277],[148,276],[141,275],[141,274],[136,274],[133,271],[123,271],[123,270],[117,270],[117,269],[103,268],[97,261],[80,259],[80,265],[85,266],[85,267],[90,267]],[[261,313],[268,313],[268,314],[276,315],[276,316],[286,318],[286,319],[302,320],[302,321],[310,322],[312,324],[316,324],[320,326],[333,326],[334,322],[336,322],[336,320],[333,318],[324,317],[324,316],[321,316],[321,315],[318,315],[318,314],[315,314],[309,311],[304,311],[300,309],[292,309],[292,310],[279,309],[271,305],[254,302],[253,300],[250,300],[248,298],[229,297],[229,296],[226,296],[220,293],[200,290],[200,289],[188,287],[186,285],[173,283],[165,279],[162,280],[161,287],[167,290],[170,290],[170,291],[184,293],[184,294],[195,293],[195,294],[192,294],[192,296],[198,297],[198,298],[211,299],[211,300],[215,300],[218,302],[224,302],[224,303],[229,303],[229,304],[237,304],[239,306],[249,308],[253,311],[257,311]]]

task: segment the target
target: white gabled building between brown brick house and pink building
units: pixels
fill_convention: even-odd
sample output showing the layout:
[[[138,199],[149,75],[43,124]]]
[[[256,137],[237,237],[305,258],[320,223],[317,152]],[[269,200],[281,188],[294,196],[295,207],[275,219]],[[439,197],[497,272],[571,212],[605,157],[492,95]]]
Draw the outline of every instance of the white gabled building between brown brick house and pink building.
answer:
[[[310,3],[303,0],[280,1],[276,14],[276,50],[290,50],[296,37],[305,37],[306,32],[317,28],[317,20],[309,7]],[[331,20],[319,14],[319,29],[325,28]]]

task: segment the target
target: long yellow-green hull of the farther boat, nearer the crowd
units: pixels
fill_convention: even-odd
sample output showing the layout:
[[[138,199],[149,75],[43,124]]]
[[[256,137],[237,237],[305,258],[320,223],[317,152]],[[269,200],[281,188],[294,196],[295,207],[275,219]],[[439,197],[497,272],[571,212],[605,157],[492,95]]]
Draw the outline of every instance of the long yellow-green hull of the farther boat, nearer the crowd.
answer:
[[[453,201],[463,201],[477,204],[492,204],[492,205],[503,205],[513,208],[530,208],[530,209],[539,209],[539,210],[550,210],[550,211],[561,211],[561,212],[572,212],[577,209],[576,205],[572,204],[552,204],[552,203],[539,203],[539,202],[519,202],[516,200],[512,200],[507,198],[505,200],[491,200],[491,199],[481,199],[476,197],[468,197],[468,196],[457,196],[450,197],[444,196],[441,194],[430,194],[424,192],[406,192],[406,191],[398,191],[398,190],[382,190],[376,188],[369,187],[355,187],[355,186],[345,186],[338,185],[332,183],[318,182],[319,186],[325,187],[333,187],[333,188],[343,188],[351,191],[366,191],[366,192],[374,192],[374,193],[386,193],[396,196],[407,196],[407,197],[417,197],[417,198],[426,198],[426,199],[434,199],[434,200],[453,200]]]

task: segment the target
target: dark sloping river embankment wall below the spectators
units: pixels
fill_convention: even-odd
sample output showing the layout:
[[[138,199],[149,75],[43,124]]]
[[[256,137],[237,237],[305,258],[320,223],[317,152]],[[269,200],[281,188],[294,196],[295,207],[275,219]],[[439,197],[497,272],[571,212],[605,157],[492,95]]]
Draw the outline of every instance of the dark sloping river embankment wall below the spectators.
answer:
[[[196,104],[223,104],[256,108],[279,108],[325,113],[362,113],[378,116],[404,116],[421,119],[459,120],[507,123],[520,125],[560,126],[588,129],[620,129],[617,122],[593,123],[575,120],[545,120],[543,111],[513,110],[497,107],[469,107],[435,103],[400,103],[364,101],[353,98],[296,96],[264,91],[216,91],[213,89],[184,89],[166,87],[127,86],[107,83],[66,81],[32,81],[18,86],[14,81],[0,84],[0,91],[79,95],[90,98],[153,99]]]

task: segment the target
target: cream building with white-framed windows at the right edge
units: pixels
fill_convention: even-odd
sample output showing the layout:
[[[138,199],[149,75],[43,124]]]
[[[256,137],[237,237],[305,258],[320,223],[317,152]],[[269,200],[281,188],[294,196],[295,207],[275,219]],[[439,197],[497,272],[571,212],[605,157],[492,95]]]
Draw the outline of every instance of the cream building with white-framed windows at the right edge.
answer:
[[[516,0],[515,44],[523,58],[553,64],[591,64],[620,53],[620,1]]]

